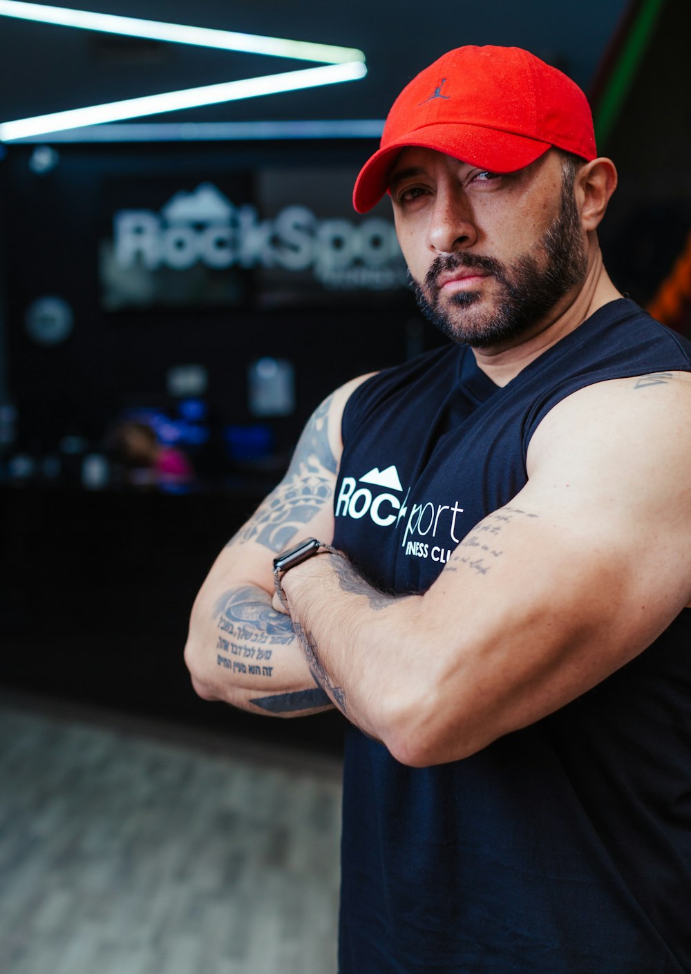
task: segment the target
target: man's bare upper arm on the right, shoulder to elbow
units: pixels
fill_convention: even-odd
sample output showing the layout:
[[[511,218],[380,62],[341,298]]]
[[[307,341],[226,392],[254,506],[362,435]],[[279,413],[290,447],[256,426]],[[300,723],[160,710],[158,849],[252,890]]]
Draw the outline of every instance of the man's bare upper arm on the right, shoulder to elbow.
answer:
[[[422,600],[446,747],[454,708],[477,750],[591,689],[689,601],[691,388],[642,402],[626,382],[557,407],[523,490]]]

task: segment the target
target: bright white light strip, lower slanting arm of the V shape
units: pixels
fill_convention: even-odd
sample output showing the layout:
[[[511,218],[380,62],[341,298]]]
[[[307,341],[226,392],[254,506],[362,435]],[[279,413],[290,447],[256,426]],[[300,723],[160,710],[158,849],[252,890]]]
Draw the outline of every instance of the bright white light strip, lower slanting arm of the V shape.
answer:
[[[121,119],[196,108],[199,105],[213,105],[222,101],[237,101],[239,98],[254,98],[262,94],[293,92],[318,85],[335,85],[362,78],[366,70],[362,61],[353,61],[349,64],[326,64],[324,67],[303,68],[300,71],[264,75],[260,78],[222,82],[220,85],[206,85],[203,88],[188,88],[181,92],[148,94],[139,98],[128,98],[125,101],[112,101],[105,105],[72,108],[69,111],[54,112],[52,115],[37,115],[35,118],[20,119],[17,122],[4,122],[0,124],[0,141],[10,142],[30,135],[99,125],[101,122],[117,122]]]

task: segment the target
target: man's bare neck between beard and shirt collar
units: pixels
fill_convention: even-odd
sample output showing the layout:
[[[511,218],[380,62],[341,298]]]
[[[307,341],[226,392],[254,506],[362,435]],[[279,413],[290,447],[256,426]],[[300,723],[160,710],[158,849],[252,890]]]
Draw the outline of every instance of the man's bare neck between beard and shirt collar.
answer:
[[[547,320],[533,332],[521,335],[515,343],[491,349],[474,349],[478,367],[497,386],[506,386],[535,358],[574,331],[595,314],[598,308],[622,297],[602,264],[602,254],[595,244],[591,251],[588,274],[575,291],[569,291]]]

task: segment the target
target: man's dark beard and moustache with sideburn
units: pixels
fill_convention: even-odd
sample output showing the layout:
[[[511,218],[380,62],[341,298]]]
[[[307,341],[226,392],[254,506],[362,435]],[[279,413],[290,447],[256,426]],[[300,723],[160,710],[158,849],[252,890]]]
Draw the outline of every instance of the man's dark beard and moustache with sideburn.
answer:
[[[499,286],[495,307],[477,307],[477,291],[456,291],[445,304],[441,302],[439,276],[460,268],[494,278]],[[487,349],[533,328],[559,298],[585,279],[587,270],[588,252],[573,197],[573,180],[567,180],[557,218],[528,253],[519,254],[509,264],[479,254],[440,254],[421,284],[412,278],[410,281],[423,315],[444,335],[454,342]]]

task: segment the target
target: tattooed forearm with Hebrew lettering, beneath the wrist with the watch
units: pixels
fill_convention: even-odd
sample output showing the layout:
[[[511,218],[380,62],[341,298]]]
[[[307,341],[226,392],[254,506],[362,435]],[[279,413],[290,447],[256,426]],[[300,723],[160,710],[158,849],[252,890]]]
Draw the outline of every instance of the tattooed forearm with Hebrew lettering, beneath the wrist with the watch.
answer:
[[[257,713],[291,716],[330,706],[300,652],[290,619],[263,588],[203,589],[185,661],[197,693]]]

